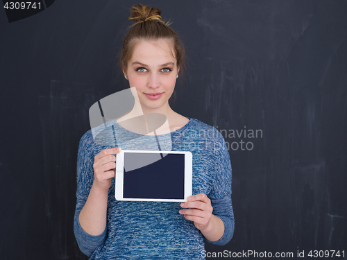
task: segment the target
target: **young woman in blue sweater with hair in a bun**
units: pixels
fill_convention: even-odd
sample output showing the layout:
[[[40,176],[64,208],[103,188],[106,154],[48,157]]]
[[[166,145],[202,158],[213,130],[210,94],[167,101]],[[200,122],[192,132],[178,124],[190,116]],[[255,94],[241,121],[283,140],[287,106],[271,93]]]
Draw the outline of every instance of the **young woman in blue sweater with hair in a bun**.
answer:
[[[231,165],[223,137],[169,105],[185,52],[160,13],[133,6],[129,19],[135,25],[124,38],[121,69],[136,88],[142,111],[167,116],[170,132],[164,135],[171,138],[171,150],[192,152],[194,195],[182,203],[115,200],[115,154],[119,148],[158,150],[150,145],[156,144],[155,137],[131,144],[117,139],[112,147],[96,144],[91,130],[86,132],[78,147],[74,232],[90,259],[204,259],[204,239],[225,245],[234,232]],[[138,136],[121,121],[109,122],[117,136]]]

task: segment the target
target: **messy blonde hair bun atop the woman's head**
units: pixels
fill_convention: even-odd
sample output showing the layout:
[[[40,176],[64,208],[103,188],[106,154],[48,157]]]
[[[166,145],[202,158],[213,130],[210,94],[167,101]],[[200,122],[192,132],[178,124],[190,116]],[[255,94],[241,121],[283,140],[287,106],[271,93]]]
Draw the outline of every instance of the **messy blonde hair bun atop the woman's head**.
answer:
[[[159,21],[162,24],[165,24],[164,21],[162,21],[162,17],[160,16],[162,11],[159,8],[143,6],[142,4],[139,3],[133,6],[130,10],[131,10],[131,15],[129,19],[135,21],[135,24],[139,24],[144,21]],[[133,26],[135,24],[133,24]]]

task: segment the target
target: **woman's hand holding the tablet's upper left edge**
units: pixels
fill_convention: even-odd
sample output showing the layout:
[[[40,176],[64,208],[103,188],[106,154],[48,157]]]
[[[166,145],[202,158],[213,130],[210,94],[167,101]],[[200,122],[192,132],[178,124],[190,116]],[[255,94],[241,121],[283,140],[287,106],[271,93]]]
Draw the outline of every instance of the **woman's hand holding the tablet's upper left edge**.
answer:
[[[110,189],[112,177],[116,175],[115,154],[120,152],[121,148],[108,148],[95,155],[93,186],[103,191]]]

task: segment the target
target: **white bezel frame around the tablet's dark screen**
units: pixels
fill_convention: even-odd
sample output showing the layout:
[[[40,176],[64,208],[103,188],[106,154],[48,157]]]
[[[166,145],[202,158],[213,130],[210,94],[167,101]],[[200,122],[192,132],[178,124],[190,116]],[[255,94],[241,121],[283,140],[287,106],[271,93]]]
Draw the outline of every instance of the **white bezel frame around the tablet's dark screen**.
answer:
[[[179,153],[185,155],[185,196],[184,199],[158,199],[158,198],[123,198],[124,182],[124,153]],[[189,151],[164,151],[164,150],[121,150],[117,153],[116,177],[115,177],[115,197],[116,200],[127,201],[163,201],[163,202],[186,202],[192,196],[192,171],[193,157]]]

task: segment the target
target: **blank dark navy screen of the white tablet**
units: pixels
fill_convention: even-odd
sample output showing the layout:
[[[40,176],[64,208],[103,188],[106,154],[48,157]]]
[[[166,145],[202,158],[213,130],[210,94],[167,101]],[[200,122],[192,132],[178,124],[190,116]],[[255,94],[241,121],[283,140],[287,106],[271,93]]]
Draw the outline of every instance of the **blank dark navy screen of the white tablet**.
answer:
[[[158,159],[158,156],[161,155],[162,157]],[[145,166],[126,171],[126,168],[129,168],[127,164],[141,164],[141,161]],[[124,198],[183,199],[185,196],[185,155],[124,153],[123,185]]]

